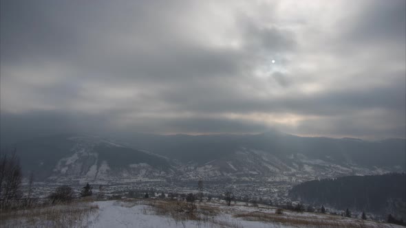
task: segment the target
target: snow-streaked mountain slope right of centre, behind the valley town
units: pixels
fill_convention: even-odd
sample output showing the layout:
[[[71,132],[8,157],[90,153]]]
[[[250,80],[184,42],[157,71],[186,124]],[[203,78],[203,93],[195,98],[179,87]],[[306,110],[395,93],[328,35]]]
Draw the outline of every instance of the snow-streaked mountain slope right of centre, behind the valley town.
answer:
[[[397,169],[401,172],[400,169]],[[396,171],[388,168],[368,168],[352,163],[334,163],[310,159],[303,154],[277,157],[269,152],[240,148],[233,154],[214,159],[202,165],[189,163],[183,166],[180,179],[234,181],[290,181],[333,178],[347,175],[383,174]]]

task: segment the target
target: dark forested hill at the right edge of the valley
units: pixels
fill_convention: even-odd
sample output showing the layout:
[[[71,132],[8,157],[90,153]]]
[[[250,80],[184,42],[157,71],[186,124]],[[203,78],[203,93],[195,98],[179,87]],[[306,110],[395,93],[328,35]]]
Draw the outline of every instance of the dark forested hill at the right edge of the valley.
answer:
[[[311,205],[406,217],[405,173],[308,181],[293,187],[289,196]]]

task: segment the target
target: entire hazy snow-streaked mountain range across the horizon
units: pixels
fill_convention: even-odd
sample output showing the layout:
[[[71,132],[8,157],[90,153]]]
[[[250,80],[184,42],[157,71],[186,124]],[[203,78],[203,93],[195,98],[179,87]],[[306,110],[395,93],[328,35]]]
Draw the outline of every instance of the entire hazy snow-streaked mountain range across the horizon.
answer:
[[[2,145],[3,146],[3,145]],[[291,181],[405,172],[405,139],[258,135],[55,135],[16,144],[25,171],[53,181]]]

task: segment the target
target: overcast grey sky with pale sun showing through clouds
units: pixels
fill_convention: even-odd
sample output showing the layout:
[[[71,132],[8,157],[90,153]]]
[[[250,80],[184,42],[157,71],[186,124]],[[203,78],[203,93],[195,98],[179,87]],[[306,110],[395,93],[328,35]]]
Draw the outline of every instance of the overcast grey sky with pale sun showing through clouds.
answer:
[[[406,1],[1,0],[2,135],[406,137]]]

